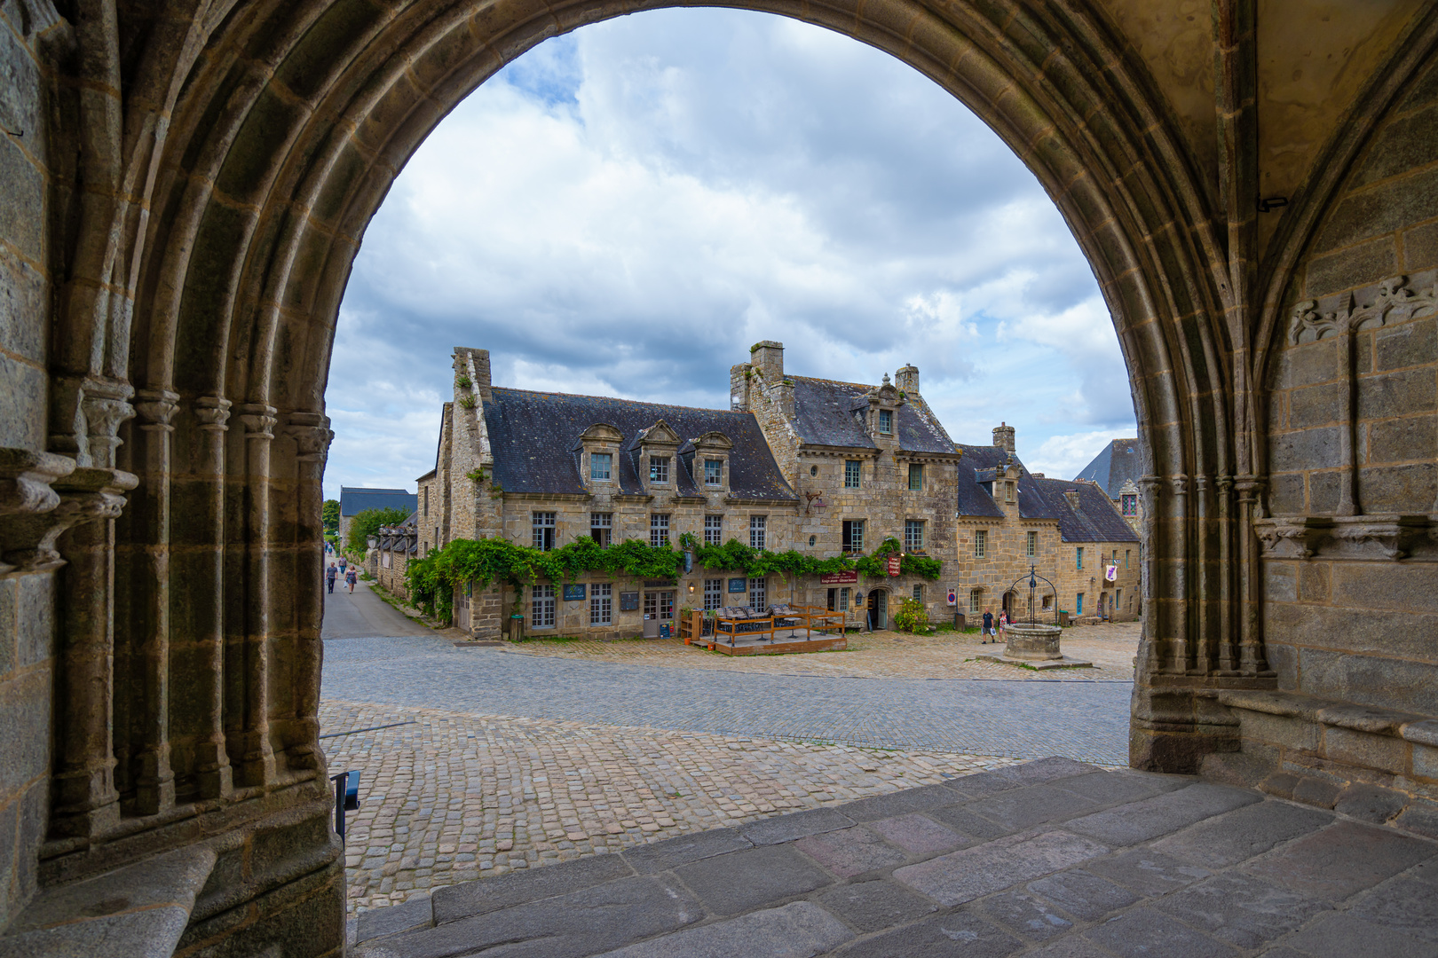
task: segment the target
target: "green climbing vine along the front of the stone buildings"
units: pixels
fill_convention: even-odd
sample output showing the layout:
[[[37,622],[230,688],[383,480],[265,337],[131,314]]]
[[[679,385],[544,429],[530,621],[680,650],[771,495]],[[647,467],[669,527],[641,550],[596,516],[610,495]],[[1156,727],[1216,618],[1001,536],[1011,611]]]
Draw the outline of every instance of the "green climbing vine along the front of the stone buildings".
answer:
[[[902,556],[900,572],[938,579],[943,564],[938,559],[903,553],[899,540],[893,537],[880,543],[871,554],[854,559],[817,559],[792,549],[775,553],[751,549],[738,539],[731,539],[723,546],[706,546],[693,533],[680,536],[679,544],[695,553],[695,564],[699,567],[743,573],[746,577],[821,576],[857,570],[866,579],[884,579],[889,576],[889,557]],[[565,582],[585,572],[673,579],[683,567],[683,552],[667,546],[656,549],[638,539],[627,539],[608,549],[592,539],[578,539],[549,552],[518,546],[505,539],[456,539],[424,559],[410,560],[404,579],[416,605],[447,620],[453,615],[454,587],[462,582],[472,580],[476,589],[485,589],[492,582],[523,589],[541,579]]]

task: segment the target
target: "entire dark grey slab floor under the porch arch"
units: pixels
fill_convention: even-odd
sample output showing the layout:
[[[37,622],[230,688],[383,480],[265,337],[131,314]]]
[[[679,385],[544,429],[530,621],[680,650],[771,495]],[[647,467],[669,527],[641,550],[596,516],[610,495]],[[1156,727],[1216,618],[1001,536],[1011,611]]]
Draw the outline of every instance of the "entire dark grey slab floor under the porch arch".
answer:
[[[354,929],[357,958],[1326,958],[1355,935],[1396,958],[1438,951],[1438,843],[1045,758],[454,885]]]

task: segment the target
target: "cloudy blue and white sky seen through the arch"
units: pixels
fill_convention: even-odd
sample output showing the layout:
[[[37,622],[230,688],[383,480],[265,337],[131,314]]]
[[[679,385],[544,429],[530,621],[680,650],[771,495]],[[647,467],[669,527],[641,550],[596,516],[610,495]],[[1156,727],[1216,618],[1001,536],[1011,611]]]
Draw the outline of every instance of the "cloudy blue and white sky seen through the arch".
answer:
[[[817,26],[654,10],[516,59],[401,171],[339,307],[325,496],[434,467],[453,346],[498,386],[728,408],[759,339],[791,375],[913,363],[956,442],[1008,422],[1051,477],[1136,435],[1089,263],[966,106]]]

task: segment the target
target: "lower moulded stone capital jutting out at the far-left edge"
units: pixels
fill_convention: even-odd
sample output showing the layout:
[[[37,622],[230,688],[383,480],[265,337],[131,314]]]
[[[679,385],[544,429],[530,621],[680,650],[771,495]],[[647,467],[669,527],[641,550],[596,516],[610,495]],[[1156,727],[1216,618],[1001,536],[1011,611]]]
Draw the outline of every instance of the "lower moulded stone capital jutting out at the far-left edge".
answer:
[[[0,531],[0,572],[43,572],[65,564],[55,541],[69,529],[102,518],[116,518],[125,507],[125,493],[139,480],[119,470],[79,467],[56,478],[52,488],[59,504],[43,513],[10,518]]]

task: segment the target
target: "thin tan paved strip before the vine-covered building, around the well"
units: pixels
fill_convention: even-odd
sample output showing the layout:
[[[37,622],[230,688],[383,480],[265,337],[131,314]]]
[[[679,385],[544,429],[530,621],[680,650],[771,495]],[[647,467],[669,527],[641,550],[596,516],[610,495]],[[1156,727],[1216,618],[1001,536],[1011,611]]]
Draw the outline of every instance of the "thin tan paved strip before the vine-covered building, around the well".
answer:
[[[930,636],[899,632],[856,632],[843,652],[804,655],[752,655],[731,658],[680,639],[531,639],[512,646],[523,655],[549,655],[585,662],[628,662],[670,668],[705,668],[769,675],[844,675],[856,678],[920,679],[1028,679],[1066,682],[1133,681],[1133,656],[1140,623],[1090,625],[1064,631],[1064,655],[1093,662],[1096,668],[1030,671],[1015,665],[979,662],[976,655],[1002,651],[981,645],[978,633]]]

